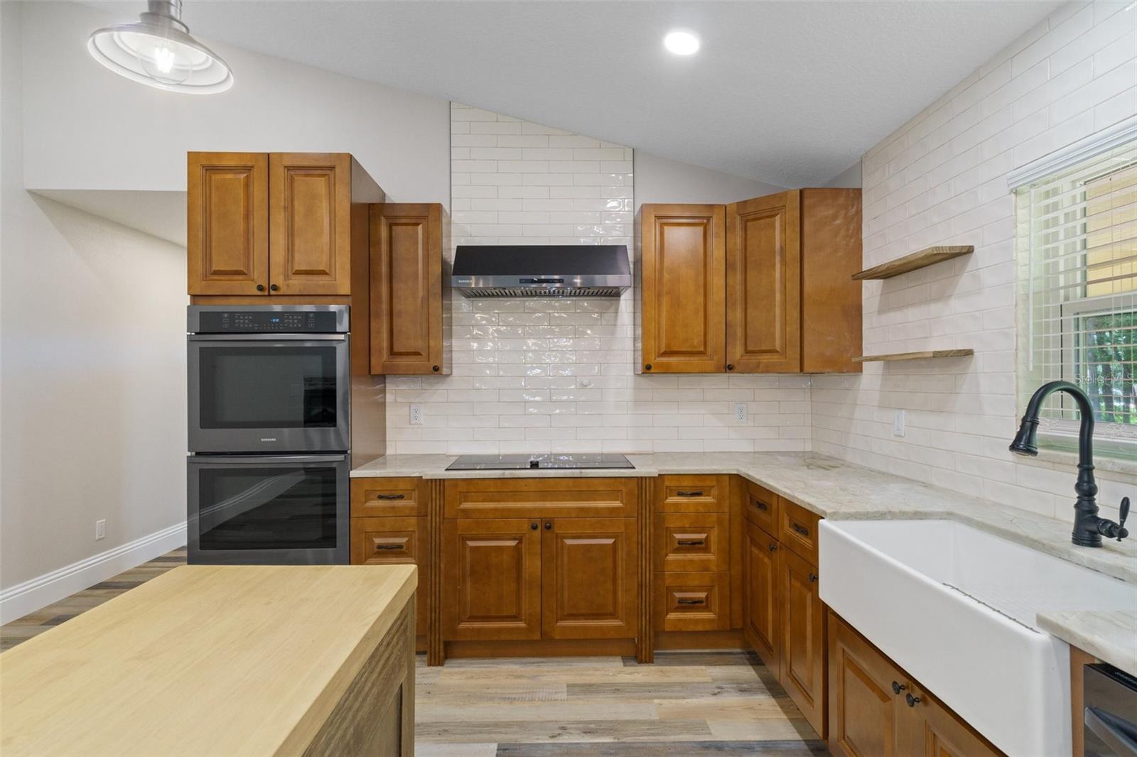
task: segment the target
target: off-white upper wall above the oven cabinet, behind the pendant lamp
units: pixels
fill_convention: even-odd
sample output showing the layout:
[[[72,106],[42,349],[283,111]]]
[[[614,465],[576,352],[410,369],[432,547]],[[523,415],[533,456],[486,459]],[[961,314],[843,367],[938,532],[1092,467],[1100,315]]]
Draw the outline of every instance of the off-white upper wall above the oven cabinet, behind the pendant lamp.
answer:
[[[88,55],[93,30],[124,19],[72,2],[24,16],[28,189],[184,191],[188,150],[330,151],[355,155],[393,201],[449,199],[446,100],[225,44],[231,90],[163,92]]]

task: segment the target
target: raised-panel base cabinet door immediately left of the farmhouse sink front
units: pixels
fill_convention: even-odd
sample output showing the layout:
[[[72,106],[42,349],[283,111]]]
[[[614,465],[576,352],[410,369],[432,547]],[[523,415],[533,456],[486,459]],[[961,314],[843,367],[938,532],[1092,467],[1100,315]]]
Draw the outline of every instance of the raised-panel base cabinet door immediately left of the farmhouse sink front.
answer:
[[[778,550],[781,569],[782,635],[779,681],[810,725],[825,737],[825,621],[818,568]]]

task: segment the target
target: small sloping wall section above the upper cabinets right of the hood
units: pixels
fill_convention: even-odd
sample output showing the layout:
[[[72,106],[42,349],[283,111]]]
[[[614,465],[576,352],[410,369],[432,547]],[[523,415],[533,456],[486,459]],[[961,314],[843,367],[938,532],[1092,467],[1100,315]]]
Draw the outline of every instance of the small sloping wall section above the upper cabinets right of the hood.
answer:
[[[645,202],[725,205],[773,194],[782,189],[785,188],[636,150],[637,207]]]

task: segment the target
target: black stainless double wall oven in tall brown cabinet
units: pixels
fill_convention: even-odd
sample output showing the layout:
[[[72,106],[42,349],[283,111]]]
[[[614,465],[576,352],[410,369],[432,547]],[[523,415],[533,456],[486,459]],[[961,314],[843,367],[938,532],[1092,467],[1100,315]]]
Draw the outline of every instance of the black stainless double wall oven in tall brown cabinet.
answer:
[[[197,564],[346,564],[348,306],[190,306]]]

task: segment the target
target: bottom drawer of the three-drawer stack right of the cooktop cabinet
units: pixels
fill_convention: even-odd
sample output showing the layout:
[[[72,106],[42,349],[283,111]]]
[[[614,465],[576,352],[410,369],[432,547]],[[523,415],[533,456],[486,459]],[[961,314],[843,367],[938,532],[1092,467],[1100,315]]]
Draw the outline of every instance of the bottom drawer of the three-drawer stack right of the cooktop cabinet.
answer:
[[[656,573],[656,631],[730,629],[730,573]]]

